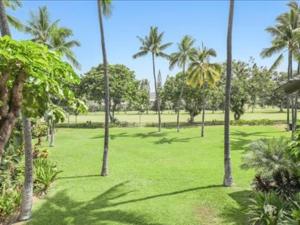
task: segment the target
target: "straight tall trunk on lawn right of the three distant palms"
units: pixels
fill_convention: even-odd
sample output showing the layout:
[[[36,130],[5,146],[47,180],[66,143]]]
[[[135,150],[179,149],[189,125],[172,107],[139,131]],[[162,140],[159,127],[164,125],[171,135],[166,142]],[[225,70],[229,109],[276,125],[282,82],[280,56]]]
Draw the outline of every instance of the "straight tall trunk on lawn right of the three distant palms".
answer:
[[[227,31],[227,65],[225,87],[225,112],[224,112],[224,181],[226,187],[232,185],[231,154],[230,154],[230,92],[232,77],[232,24],[233,24],[234,0],[230,0],[228,31]]]

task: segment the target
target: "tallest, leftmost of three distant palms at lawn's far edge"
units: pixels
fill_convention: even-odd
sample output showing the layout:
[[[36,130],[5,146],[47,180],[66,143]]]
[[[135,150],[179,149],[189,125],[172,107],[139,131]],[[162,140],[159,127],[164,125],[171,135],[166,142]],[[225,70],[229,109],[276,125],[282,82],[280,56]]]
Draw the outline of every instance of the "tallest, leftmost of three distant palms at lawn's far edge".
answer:
[[[156,104],[157,104],[156,106],[158,111],[159,132],[161,130],[160,96],[158,93],[157,82],[156,82],[155,59],[156,57],[169,59],[169,55],[164,53],[164,50],[172,44],[172,43],[162,44],[163,36],[164,36],[164,32],[159,33],[157,27],[150,27],[150,32],[148,36],[145,36],[144,38],[138,36],[138,39],[141,42],[141,47],[139,48],[139,52],[133,55],[134,59],[145,56],[149,53],[152,56],[152,69],[153,69],[154,87],[155,87]]]

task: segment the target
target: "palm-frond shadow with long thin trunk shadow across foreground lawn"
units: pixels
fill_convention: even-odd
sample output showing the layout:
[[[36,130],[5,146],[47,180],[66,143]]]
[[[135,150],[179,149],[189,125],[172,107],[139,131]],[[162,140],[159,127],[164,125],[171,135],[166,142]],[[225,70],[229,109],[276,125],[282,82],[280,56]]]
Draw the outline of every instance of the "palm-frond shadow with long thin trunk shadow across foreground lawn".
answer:
[[[34,211],[33,219],[27,225],[109,225],[115,223],[163,225],[162,223],[155,222],[150,215],[124,211],[114,207],[150,199],[170,197],[186,192],[222,187],[221,185],[209,185],[131,200],[122,200],[122,197],[128,196],[128,194],[133,192],[132,190],[128,190],[127,183],[128,181],[117,184],[86,202],[75,201],[68,196],[66,191],[60,191],[53,197],[48,197],[46,202]]]

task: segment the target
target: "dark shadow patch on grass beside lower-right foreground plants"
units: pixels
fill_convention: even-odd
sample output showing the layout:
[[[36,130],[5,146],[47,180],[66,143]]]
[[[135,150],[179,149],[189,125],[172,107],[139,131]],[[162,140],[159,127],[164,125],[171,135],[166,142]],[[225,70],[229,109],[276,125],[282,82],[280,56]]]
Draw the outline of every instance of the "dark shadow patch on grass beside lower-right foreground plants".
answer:
[[[237,207],[226,207],[221,214],[224,222],[241,225],[248,224],[246,207],[249,204],[249,198],[252,194],[252,191],[238,191],[230,193],[229,196],[237,202]]]

